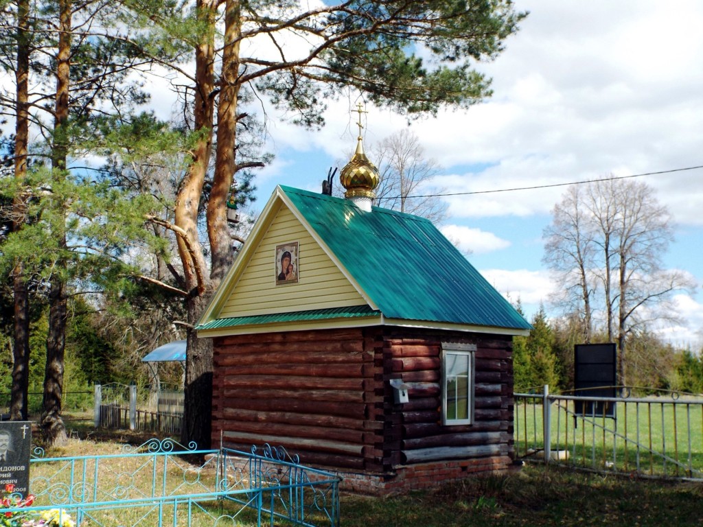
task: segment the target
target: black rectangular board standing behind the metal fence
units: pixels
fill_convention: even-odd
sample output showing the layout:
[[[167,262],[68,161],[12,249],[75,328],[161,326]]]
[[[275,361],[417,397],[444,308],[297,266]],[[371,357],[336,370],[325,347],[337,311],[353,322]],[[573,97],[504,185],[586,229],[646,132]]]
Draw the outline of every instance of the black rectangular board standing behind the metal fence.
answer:
[[[574,346],[574,395],[615,397],[615,344],[576,344]],[[615,419],[615,404],[605,401],[575,401],[574,413]]]

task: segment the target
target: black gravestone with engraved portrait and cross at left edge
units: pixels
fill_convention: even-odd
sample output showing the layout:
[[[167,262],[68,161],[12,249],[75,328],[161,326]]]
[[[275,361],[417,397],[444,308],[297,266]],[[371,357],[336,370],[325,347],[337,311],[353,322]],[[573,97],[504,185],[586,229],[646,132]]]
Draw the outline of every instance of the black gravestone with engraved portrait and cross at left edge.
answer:
[[[32,423],[0,421],[0,489],[15,486],[13,493],[30,493],[30,451]]]

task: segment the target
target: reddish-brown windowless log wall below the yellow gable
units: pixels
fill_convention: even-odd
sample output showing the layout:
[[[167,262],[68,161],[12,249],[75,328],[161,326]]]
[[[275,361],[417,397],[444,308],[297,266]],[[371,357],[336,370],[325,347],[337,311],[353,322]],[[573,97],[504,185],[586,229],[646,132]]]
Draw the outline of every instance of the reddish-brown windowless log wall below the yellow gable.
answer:
[[[383,423],[370,410],[378,396],[367,344],[359,329],[216,339],[212,444],[221,434],[228,448],[269,443],[305,464],[378,469]]]

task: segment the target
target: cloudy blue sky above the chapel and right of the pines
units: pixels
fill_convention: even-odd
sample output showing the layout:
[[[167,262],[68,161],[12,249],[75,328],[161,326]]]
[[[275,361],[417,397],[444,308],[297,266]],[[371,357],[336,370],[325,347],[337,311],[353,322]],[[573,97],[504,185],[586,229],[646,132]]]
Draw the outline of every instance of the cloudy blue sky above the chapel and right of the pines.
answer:
[[[447,193],[553,185],[703,165],[703,2],[516,0],[530,12],[505,52],[481,65],[494,96],[466,112],[411,125],[443,167]],[[269,122],[276,161],[257,178],[259,207],[277,184],[319,190],[351,151],[354,96],[330,103],[322,131]],[[406,126],[368,107],[365,142]],[[666,266],[703,282],[703,169],[643,176],[676,221]],[[442,229],[469,260],[528,313],[554,287],[541,263],[543,228],[565,187],[447,197]],[[697,287],[697,291],[700,287]],[[666,327],[699,346],[703,296],[681,294],[685,318]],[[549,306],[547,306],[549,311]]]

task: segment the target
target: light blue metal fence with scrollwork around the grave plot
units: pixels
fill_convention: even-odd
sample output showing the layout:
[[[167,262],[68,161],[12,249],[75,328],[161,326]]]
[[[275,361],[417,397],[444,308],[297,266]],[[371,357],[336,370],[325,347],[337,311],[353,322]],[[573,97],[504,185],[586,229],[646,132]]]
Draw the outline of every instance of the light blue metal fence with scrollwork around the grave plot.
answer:
[[[39,456],[30,468],[34,503],[3,513],[58,509],[57,523],[100,527],[339,525],[340,478],[269,445],[245,453],[153,439],[118,454]]]

